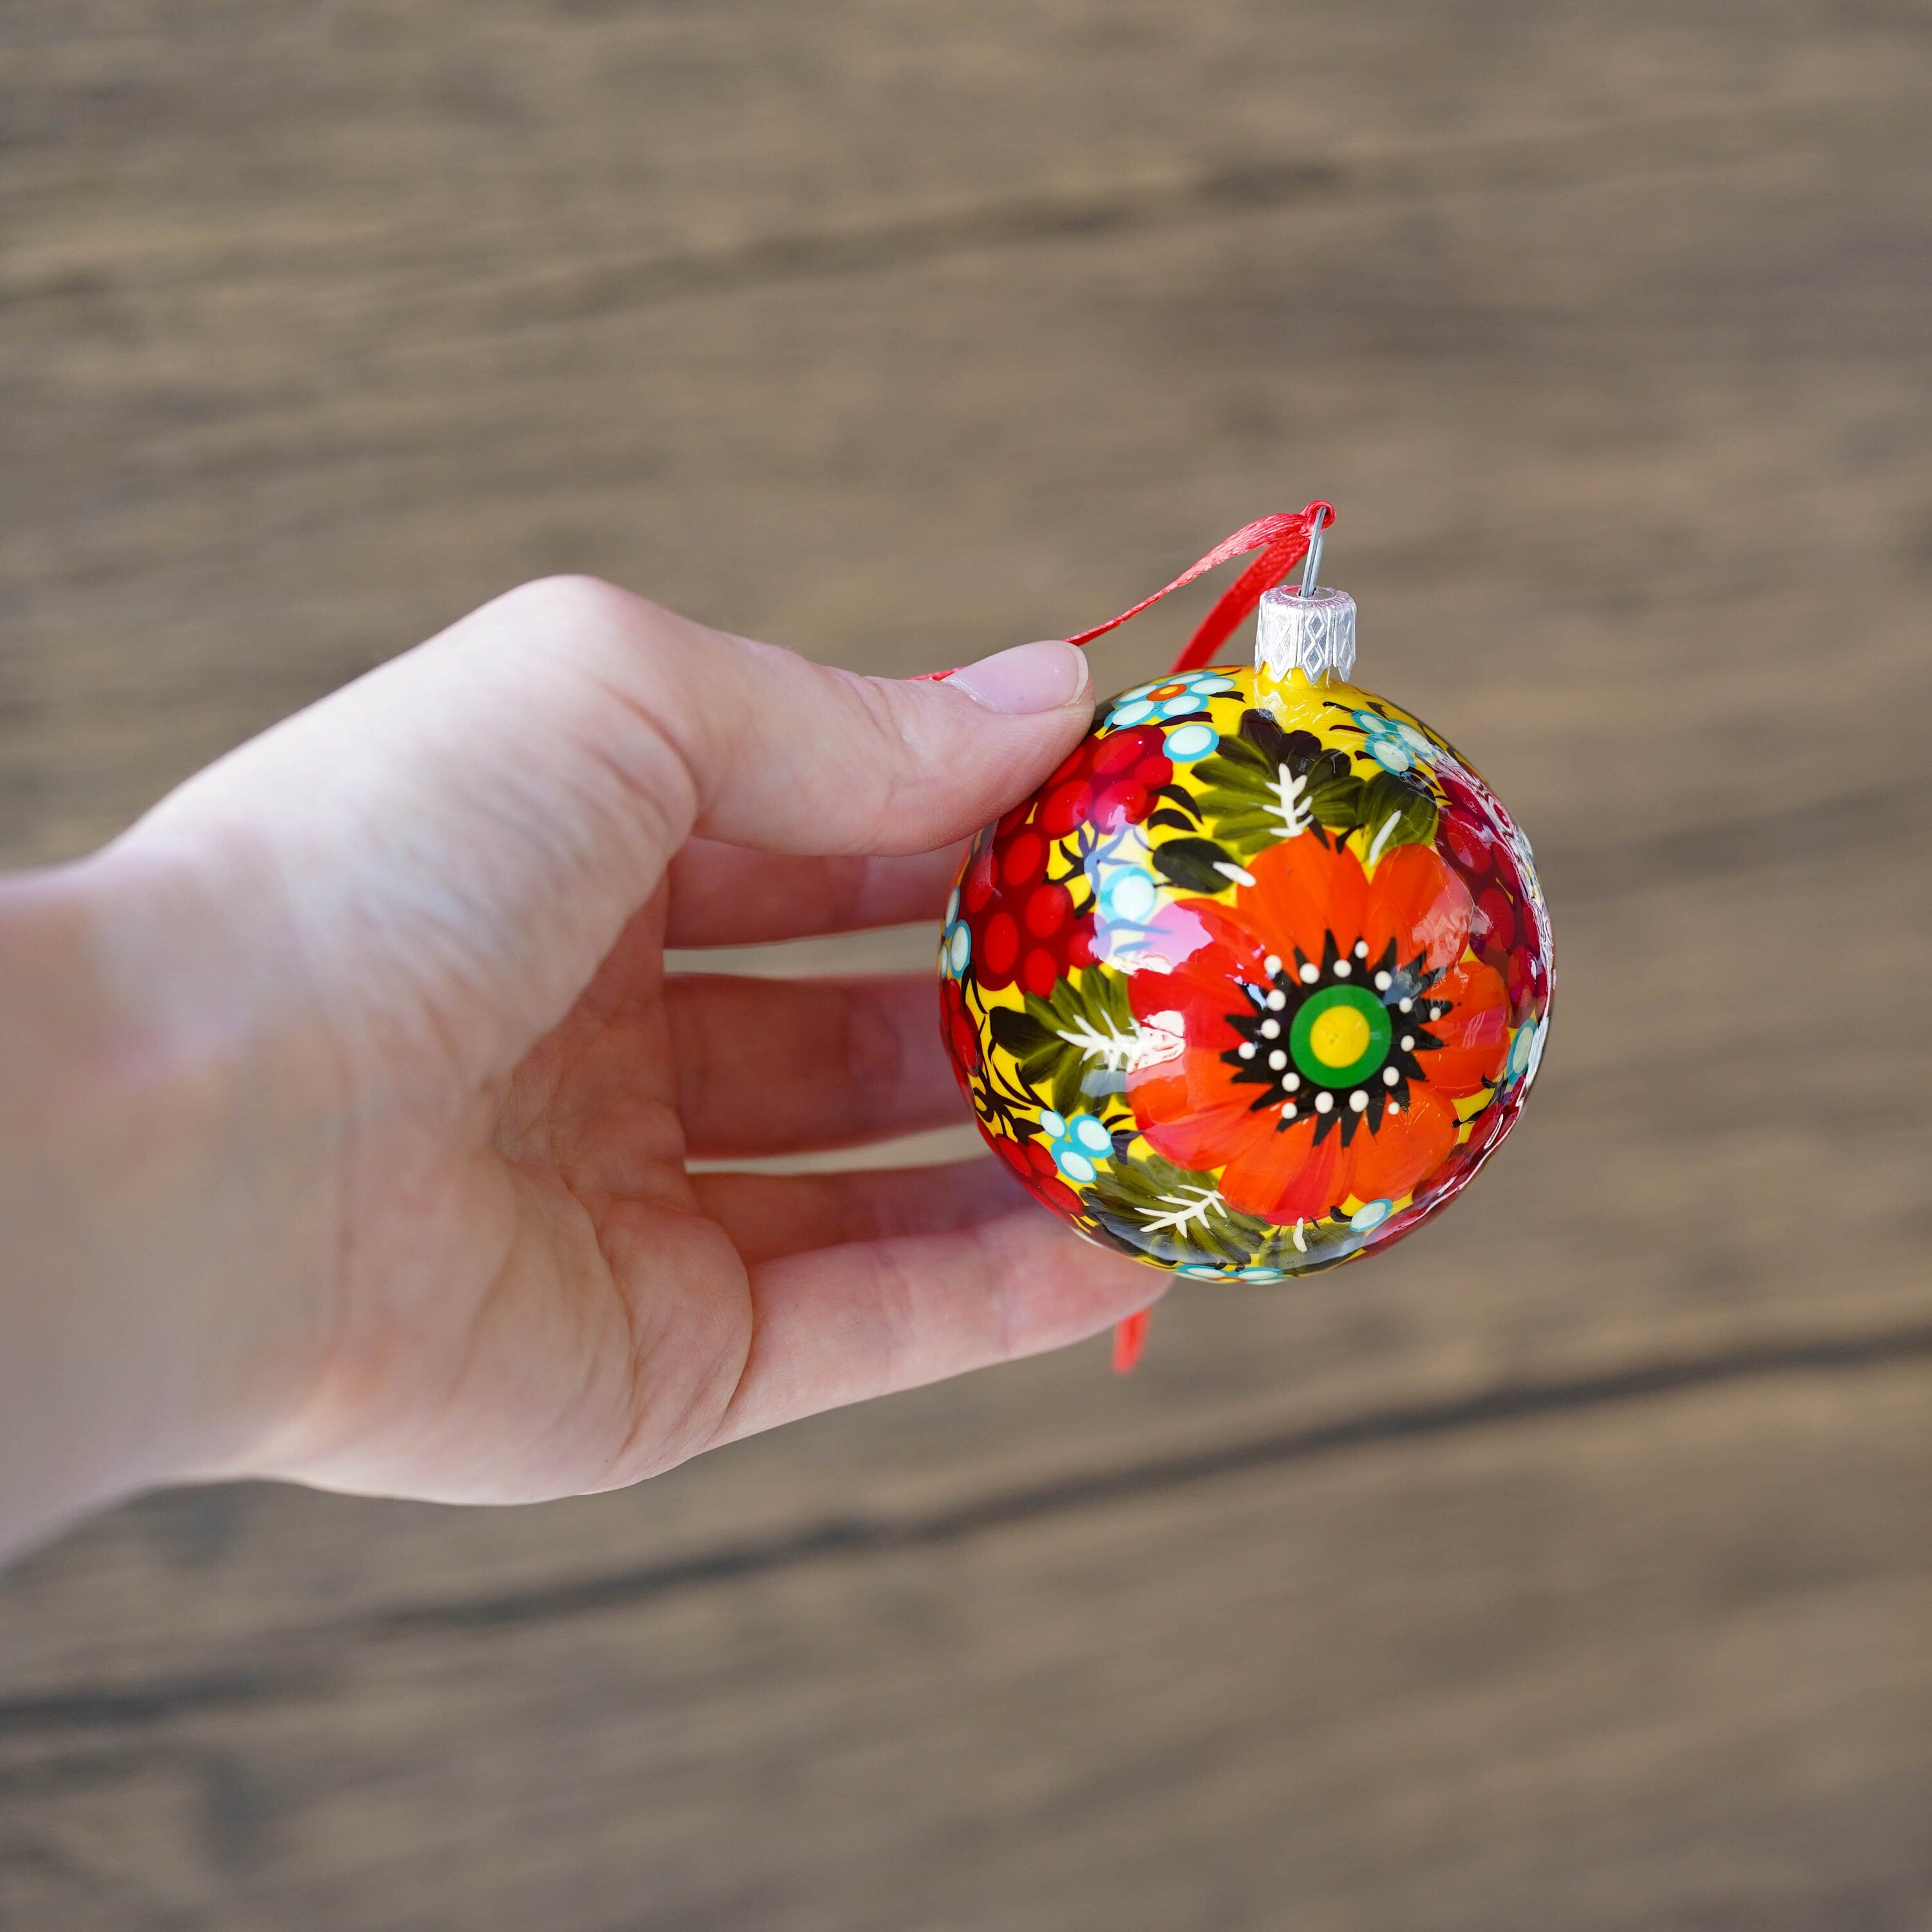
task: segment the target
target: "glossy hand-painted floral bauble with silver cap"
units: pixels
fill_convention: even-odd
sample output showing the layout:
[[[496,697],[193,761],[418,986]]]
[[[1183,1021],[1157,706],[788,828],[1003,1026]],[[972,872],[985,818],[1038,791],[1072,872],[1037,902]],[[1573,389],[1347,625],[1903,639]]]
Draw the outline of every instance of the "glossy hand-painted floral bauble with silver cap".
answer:
[[[980,833],[947,912],[945,1037],[993,1151],[1088,1238],[1182,1275],[1387,1246],[1536,1078],[1528,840],[1352,668],[1347,595],[1271,591],[1254,668],[1103,705]]]

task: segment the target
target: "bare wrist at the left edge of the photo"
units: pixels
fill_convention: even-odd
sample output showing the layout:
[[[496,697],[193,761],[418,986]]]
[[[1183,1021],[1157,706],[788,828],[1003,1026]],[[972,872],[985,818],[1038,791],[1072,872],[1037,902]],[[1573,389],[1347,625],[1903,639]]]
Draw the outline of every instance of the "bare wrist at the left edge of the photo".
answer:
[[[0,881],[0,1544],[236,1466],[294,1385],[327,1163],[232,941],[170,858]]]

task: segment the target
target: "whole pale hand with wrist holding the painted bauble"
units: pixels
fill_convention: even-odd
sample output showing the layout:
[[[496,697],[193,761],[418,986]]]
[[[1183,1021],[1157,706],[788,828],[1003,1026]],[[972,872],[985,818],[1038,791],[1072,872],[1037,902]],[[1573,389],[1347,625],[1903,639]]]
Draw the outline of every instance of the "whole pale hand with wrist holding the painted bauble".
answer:
[[[896,684],[554,580],[17,883],[0,1053],[75,1124],[0,1138],[0,1397],[54,1443],[15,1520],[180,1476],[605,1490],[1151,1300],[989,1157],[688,1173],[964,1103],[925,974],[663,958],[935,918],[1090,707],[1063,643]]]

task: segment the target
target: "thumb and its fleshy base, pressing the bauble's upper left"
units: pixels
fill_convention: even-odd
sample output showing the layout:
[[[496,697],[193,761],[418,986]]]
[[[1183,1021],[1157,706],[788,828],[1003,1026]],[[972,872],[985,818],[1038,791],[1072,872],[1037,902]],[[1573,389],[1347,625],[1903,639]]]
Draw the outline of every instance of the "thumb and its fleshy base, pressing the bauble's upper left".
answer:
[[[1068,643],[862,678],[551,578],[232,752],[124,844],[267,858],[323,951],[498,987],[508,968],[514,1005],[554,1014],[694,831],[931,850],[1022,798],[1090,715]]]

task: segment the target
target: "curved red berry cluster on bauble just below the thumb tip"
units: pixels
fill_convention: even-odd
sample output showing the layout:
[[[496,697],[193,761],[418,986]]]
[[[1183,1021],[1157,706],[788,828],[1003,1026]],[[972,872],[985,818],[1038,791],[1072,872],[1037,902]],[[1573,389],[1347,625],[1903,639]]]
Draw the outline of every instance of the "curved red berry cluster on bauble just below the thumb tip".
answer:
[[[1020,981],[1045,999],[1074,966],[1094,964],[1094,914],[1074,918],[1072,893],[1047,877],[1055,838],[1080,825],[1119,831],[1153,810],[1175,767],[1161,730],[1090,734],[1051,779],[1014,806],[974,852],[960,885],[972,972],[989,993]]]

